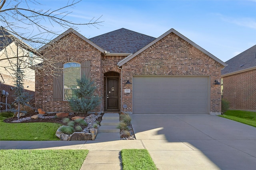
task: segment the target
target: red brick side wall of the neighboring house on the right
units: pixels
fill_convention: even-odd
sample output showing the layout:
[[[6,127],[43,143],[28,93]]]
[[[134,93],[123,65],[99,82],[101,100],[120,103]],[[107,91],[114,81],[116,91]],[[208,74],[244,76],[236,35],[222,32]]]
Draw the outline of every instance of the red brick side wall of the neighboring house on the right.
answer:
[[[223,98],[230,109],[256,110],[256,69],[222,78]]]

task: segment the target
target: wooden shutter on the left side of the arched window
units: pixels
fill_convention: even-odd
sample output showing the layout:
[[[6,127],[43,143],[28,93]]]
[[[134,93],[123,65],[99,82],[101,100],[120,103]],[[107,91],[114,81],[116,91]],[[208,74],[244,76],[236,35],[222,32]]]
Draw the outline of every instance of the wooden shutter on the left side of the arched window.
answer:
[[[55,63],[56,72],[53,77],[53,101],[62,101],[63,100],[63,63]]]

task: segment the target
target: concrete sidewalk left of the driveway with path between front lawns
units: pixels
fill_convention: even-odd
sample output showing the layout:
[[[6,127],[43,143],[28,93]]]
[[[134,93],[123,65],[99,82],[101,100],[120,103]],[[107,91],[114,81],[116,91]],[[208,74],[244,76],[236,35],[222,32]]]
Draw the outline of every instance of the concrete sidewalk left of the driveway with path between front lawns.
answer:
[[[141,140],[0,141],[0,149],[88,149],[80,170],[121,170],[122,149],[145,149]]]

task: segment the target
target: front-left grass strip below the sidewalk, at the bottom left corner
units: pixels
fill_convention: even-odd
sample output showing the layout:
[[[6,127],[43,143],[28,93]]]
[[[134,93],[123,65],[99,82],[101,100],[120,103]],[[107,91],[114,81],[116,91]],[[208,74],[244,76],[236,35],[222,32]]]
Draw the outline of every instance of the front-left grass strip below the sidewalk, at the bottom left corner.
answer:
[[[1,170],[80,170],[88,150],[0,150]]]

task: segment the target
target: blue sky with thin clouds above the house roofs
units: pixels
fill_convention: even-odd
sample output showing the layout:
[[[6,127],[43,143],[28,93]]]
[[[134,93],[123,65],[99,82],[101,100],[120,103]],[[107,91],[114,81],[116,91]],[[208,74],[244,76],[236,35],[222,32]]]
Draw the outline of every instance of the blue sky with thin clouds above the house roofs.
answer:
[[[39,2],[44,6],[37,8],[42,9],[68,3]],[[72,13],[66,19],[75,23],[102,16],[98,28],[78,26],[86,38],[120,28],[157,38],[174,28],[224,62],[256,45],[256,0],[82,0],[68,11]]]

